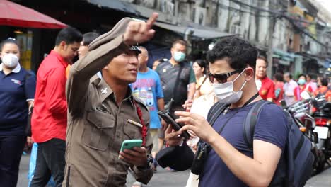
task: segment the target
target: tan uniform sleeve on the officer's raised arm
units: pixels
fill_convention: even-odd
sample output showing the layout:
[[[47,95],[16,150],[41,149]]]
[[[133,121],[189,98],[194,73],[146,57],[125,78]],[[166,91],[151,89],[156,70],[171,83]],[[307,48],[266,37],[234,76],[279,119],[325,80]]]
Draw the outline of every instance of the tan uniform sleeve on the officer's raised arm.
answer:
[[[93,75],[105,67],[112,58],[120,55],[129,46],[123,42],[122,35],[103,43],[95,50],[79,59],[70,69],[66,83],[66,99],[69,113],[80,113],[88,96],[88,84]]]

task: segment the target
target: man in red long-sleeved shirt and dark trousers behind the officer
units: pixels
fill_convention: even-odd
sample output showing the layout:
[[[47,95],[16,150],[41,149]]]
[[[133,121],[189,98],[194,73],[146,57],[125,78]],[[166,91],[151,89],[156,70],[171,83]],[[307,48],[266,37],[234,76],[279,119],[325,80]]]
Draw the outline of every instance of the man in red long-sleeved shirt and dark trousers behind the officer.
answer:
[[[64,179],[66,151],[66,67],[77,55],[82,35],[75,28],[64,28],[55,47],[40,64],[32,116],[32,134],[38,144],[37,164],[31,187],[46,186],[52,175],[56,186]]]

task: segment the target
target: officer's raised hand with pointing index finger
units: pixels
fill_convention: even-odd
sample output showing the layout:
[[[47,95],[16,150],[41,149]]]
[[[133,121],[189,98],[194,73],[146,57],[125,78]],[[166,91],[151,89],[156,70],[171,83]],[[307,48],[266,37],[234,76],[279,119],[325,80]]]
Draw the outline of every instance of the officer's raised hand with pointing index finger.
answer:
[[[151,28],[156,18],[158,18],[158,13],[153,13],[146,23],[130,21],[123,35],[124,43],[131,46],[151,40],[155,33],[155,30]]]

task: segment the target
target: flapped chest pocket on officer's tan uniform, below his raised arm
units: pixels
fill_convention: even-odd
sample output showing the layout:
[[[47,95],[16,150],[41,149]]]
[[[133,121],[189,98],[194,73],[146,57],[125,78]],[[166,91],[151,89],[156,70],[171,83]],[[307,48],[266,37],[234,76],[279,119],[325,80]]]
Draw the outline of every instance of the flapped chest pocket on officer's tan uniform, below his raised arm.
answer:
[[[105,151],[113,137],[115,118],[101,111],[87,111],[83,143],[93,149]]]

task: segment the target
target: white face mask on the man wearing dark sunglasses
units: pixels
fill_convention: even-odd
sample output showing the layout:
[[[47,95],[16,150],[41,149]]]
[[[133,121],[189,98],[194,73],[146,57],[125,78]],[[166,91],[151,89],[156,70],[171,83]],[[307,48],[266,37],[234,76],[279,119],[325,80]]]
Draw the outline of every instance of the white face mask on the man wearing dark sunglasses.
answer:
[[[245,72],[245,69],[243,70],[243,72]],[[241,72],[238,75],[238,77],[240,77],[240,75],[243,74],[243,72]],[[236,79],[234,79],[233,81],[228,81],[223,84],[214,83],[214,85],[213,85],[214,92],[216,94],[217,99],[221,103],[232,104],[232,103],[238,102],[239,99],[241,98],[241,95],[243,94],[243,91],[241,91],[241,89],[243,89],[243,86],[245,86],[246,81],[244,82],[243,86],[241,86],[240,90],[235,92],[235,91],[233,91],[233,82],[236,81],[238,79],[238,77],[236,77]]]

